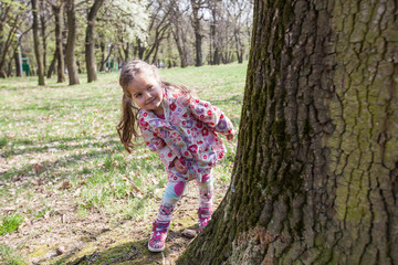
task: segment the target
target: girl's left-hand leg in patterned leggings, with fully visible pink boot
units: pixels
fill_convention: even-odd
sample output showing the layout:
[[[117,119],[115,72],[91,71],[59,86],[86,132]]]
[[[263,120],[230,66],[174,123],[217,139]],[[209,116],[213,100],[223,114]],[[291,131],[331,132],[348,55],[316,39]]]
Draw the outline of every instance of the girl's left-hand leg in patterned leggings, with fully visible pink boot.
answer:
[[[172,177],[169,180],[172,180]],[[164,198],[160,203],[158,215],[153,223],[153,234],[150,236],[148,248],[153,252],[161,252],[165,250],[167,230],[170,226],[172,212],[178,200],[181,198],[186,187],[185,181],[169,181]]]

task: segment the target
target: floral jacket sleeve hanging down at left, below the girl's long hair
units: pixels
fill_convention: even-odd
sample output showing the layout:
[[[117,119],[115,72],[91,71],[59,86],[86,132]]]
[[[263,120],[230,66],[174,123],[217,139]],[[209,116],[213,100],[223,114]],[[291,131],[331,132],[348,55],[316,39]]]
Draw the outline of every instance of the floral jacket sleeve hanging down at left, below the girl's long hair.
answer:
[[[143,123],[143,120],[139,123],[139,128],[149,150],[159,155],[159,158],[166,168],[171,168],[174,166],[172,161],[177,156],[171,151],[166,141],[159,137],[158,134],[150,130],[148,124],[145,121]]]

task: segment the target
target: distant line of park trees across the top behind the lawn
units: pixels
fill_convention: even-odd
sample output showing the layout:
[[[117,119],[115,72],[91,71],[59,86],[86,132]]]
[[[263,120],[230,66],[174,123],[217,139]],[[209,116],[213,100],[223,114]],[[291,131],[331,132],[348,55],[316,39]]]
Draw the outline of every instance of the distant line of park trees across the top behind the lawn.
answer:
[[[87,82],[132,59],[159,67],[248,57],[251,0],[2,0],[0,76]]]

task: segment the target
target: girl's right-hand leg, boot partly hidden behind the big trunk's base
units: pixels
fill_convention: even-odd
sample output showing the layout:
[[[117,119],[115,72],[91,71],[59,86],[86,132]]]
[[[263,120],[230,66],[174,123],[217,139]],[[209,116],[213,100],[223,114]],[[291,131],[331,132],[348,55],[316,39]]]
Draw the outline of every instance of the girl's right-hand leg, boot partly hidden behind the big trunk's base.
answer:
[[[201,181],[197,180],[199,187],[199,232],[201,232],[211,219],[212,213],[212,178],[211,174],[203,174]]]

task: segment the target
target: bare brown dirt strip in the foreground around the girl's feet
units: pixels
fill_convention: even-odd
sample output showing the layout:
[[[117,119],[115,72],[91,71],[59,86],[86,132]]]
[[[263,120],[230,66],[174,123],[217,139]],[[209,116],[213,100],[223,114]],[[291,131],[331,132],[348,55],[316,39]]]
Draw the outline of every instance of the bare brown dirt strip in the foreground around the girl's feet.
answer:
[[[224,183],[216,184],[216,206],[226,189]],[[43,192],[42,195],[50,194]],[[164,254],[147,250],[156,206],[146,218],[109,224],[108,216],[95,210],[80,218],[77,205],[71,205],[69,201],[67,198],[56,201],[54,211],[43,218],[25,219],[18,232],[2,236],[0,244],[14,248],[24,245],[20,254],[28,257],[28,264],[174,264],[191,241],[181,232],[198,229],[198,197],[193,181],[177,205]],[[158,204],[159,199],[156,202]],[[57,250],[61,251],[59,254]]]

